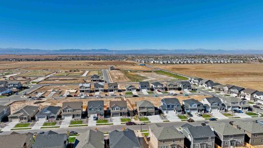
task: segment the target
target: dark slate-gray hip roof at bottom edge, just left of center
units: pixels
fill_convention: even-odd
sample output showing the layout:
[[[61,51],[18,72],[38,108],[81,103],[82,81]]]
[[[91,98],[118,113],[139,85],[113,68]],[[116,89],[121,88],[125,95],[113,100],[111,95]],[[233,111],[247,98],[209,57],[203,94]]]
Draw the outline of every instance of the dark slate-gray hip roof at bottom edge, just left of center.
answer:
[[[133,130],[114,130],[109,134],[110,148],[141,148]]]

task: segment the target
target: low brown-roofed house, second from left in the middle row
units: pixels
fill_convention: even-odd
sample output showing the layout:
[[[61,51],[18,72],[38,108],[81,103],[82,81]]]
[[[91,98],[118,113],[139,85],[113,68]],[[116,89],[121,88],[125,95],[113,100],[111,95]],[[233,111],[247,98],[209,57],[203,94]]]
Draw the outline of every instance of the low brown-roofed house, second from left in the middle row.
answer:
[[[25,106],[10,114],[8,116],[8,120],[12,122],[31,121],[31,119],[35,117],[36,113],[38,113],[38,109],[39,108],[36,106]]]

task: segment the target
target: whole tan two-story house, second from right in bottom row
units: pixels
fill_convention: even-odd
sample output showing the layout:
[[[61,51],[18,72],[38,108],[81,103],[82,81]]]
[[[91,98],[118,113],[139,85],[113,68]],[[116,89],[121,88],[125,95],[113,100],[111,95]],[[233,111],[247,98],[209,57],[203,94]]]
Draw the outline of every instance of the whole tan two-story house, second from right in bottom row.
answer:
[[[209,126],[216,134],[215,143],[221,148],[243,147],[245,132],[225,122],[211,122]]]

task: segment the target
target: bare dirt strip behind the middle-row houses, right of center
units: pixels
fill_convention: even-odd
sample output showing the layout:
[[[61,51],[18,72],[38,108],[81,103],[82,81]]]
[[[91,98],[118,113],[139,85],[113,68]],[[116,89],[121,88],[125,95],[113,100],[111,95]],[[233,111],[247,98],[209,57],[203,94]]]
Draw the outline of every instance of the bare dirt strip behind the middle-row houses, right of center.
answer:
[[[161,105],[161,100],[163,98],[177,98],[177,99],[179,99],[179,101],[182,104],[183,100],[187,100],[187,99],[192,98],[192,99],[196,99],[198,101],[201,101],[205,97],[211,97],[211,96],[192,95],[192,96],[167,96],[167,97],[136,97],[136,98],[127,98],[127,99],[130,101],[130,103],[132,104],[132,107],[135,109],[136,108],[136,102],[143,101],[143,100],[150,101],[151,103],[153,103],[153,105],[155,107],[159,107]]]

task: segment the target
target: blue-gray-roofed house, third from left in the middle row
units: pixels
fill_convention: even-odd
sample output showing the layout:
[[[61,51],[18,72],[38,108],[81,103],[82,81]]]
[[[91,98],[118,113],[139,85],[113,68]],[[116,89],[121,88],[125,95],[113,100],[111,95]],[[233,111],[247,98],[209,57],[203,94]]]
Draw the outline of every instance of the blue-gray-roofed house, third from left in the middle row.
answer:
[[[47,106],[36,114],[36,120],[56,120],[60,113],[60,107]]]

